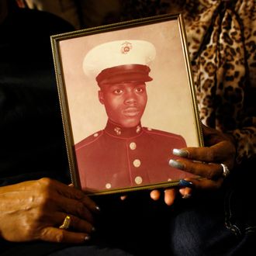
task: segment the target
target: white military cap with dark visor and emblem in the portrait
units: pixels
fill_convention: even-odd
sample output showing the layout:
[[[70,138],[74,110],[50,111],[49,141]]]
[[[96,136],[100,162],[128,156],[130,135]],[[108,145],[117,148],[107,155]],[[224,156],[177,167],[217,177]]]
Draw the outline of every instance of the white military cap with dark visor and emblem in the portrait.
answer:
[[[83,61],[86,75],[98,85],[126,81],[151,81],[150,63],[156,55],[152,43],[144,40],[116,40],[92,48]]]

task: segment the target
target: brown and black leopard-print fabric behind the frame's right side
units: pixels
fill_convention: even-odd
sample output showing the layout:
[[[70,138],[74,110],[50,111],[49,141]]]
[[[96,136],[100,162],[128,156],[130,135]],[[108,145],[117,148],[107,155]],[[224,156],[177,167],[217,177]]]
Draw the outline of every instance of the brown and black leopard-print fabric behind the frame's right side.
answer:
[[[183,13],[202,123],[234,136],[238,163],[254,157],[255,0],[126,0],[123,10],[123,19]]]

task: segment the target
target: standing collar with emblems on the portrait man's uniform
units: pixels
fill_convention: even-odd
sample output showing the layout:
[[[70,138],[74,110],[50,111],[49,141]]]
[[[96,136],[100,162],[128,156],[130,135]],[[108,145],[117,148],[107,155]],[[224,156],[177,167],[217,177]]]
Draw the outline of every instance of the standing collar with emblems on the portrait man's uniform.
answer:
[[[113,123],[112,121],[108,120],[108,123],[105,127],[105,131],[106,133],[109,133],[109,135],[112,135],[114,137],[129,138],[138,136],[140,133],[142,133],[142,127],[141,124],[139,123],[135,127],[123,128],[122,126],[119,126],[117,123]]]

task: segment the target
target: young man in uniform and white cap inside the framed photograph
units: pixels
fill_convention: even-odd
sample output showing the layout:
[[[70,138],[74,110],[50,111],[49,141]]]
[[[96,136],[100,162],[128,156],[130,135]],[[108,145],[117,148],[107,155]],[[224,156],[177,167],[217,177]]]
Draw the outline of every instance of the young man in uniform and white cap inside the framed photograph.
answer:
[[[154,44],[145,40],[110,41],[86,54],[84,72],[95,77],[108,119],[102,130],[74,145],[81,189],[121,189],[189,177],[169,165],[175,159],[172,150],[186,147],[185,139],[140,122],[155,57]]]

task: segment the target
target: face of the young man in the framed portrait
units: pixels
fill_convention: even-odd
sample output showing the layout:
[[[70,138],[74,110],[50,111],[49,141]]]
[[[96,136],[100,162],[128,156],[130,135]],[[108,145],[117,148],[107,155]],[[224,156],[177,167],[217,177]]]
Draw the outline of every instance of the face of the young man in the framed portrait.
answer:
[[[146,85],[144,82],[103,85],[99,101],[112,122],[126,128],[137,126],[147,104]]]

